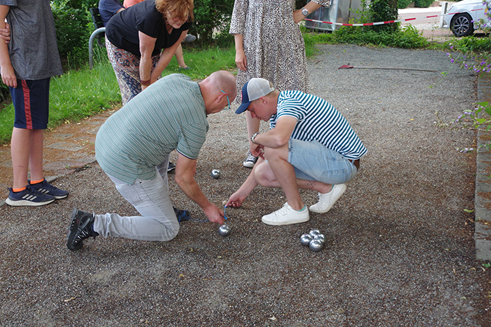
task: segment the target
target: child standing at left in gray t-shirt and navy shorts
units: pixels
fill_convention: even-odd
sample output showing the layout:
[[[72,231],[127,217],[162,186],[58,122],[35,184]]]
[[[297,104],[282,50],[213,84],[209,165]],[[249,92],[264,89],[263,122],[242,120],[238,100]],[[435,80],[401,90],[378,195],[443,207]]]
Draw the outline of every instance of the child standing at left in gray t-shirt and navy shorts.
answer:
[[[10,42],[0,42],[0,73],[15,108],[10,145],[14,180],[6,203],[41,206],[68,195],[43,175],[49,81],[63,73],[55,21],[49,0],[0,0],[0,28],[6,28],[5,21],[11,35]]]

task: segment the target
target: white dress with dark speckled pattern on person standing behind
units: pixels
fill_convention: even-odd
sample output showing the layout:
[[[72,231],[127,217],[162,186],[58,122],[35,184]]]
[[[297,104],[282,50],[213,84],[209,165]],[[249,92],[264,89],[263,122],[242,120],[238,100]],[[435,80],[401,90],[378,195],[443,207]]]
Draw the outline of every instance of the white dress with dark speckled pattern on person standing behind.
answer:
[[[330,6],[330,0],[314,0]],[[235,0],[229,33],[244,37],[247,71],[238,69],[237,89],[265,78],[280,91],[308,91],[305,44],[293,12],[295,0]],[[235,99],[240,103],[240,97]]]

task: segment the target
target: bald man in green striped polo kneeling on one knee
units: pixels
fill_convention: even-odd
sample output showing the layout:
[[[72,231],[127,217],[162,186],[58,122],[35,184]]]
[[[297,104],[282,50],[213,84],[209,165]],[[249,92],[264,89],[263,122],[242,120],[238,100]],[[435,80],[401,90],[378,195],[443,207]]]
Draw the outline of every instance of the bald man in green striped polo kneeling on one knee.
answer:
[[[208,132],[208,114],[229,106],[237,94],[235,77],[216,71],[202,82],[172,74],[161,78],[100,127],[96,159],[116,189],[141,216],[94,215],[74,209],[67,246],[82,248],[85,238],[102,235],[134,240],[172,240],[186,213],[172,206],[167,166],[177,150],[175,180],[211,222],[224,212],[208,201],[195,181],[196,161]]]

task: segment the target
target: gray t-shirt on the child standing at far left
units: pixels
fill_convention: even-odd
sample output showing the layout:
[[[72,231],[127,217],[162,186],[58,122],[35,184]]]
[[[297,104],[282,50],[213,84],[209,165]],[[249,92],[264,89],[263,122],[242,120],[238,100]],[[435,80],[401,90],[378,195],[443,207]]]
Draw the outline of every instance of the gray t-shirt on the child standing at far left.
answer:
[[[21,80],[42,80],[61,75],[55,21],[49,0],[0,0],[10,6],[8,53],[15,75]]]

